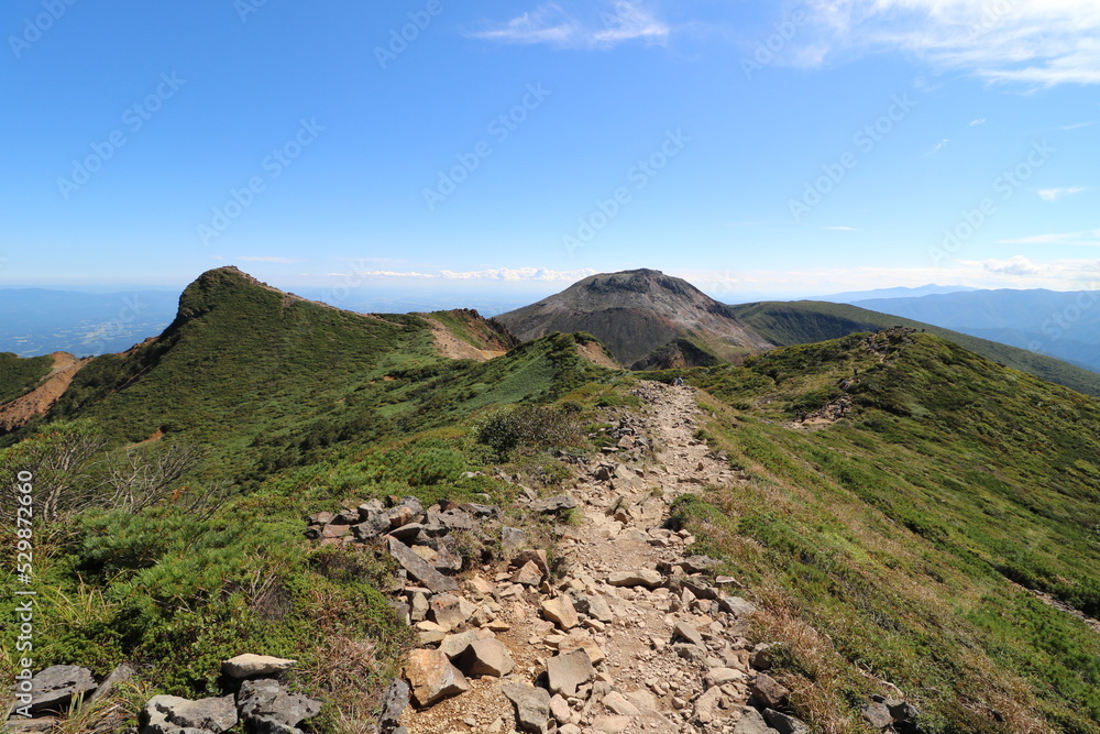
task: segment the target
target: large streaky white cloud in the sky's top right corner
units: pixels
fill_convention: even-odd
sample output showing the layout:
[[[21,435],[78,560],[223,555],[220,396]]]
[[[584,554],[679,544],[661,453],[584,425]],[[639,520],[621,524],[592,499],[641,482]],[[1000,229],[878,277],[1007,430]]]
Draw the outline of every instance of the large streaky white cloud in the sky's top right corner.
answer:
[[[942,70],[1030,86],[1100,84],[1096,0],[818,0],[823,59],[904,51]]]

